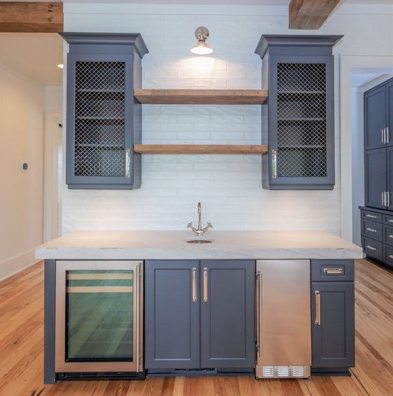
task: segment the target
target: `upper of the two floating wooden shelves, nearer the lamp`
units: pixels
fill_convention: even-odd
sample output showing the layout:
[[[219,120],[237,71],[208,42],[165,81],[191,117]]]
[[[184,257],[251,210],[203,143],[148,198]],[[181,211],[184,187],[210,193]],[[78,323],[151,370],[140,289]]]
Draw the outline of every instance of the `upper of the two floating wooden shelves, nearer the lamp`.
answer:
[[[135,89],[140,103],[154,105],[260,105],[267,91],[260,89]]]

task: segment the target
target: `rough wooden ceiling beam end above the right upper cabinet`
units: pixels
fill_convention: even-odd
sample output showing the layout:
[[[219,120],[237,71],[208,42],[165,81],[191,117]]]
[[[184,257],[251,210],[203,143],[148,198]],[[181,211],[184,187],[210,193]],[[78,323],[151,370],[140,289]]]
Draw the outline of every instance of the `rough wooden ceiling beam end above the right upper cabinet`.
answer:
[[[341,0],[291,0],[289,29],[319,29]]]

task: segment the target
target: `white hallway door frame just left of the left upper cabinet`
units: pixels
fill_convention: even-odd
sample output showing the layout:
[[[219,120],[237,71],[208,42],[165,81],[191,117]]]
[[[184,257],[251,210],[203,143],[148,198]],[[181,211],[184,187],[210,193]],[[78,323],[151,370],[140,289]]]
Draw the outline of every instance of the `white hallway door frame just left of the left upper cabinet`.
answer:
[[[59,236],[59,208],[57,207],[58,164],[54,161],[57,141],[54,132],[59,128],[62,112],[45,112],[45,164],[44,164],[44,242]],[[63,175],[61,175],[63,178]]]

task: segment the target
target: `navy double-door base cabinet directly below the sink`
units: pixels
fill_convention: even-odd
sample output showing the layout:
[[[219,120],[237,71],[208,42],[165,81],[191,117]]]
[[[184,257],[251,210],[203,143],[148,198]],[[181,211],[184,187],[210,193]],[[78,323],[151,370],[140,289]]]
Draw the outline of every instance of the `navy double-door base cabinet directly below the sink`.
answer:
[[[253,374],[254,260],[147,260],[144,273],[149,375]]]

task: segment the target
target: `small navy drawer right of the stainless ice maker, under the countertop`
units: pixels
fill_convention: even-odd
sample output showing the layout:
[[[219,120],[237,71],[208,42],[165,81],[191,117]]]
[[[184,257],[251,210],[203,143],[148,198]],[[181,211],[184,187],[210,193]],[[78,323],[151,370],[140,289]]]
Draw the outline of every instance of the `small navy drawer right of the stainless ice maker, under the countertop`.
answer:
[[[313,282],[353,282],[354,278],[353,260],[311,260]]]

